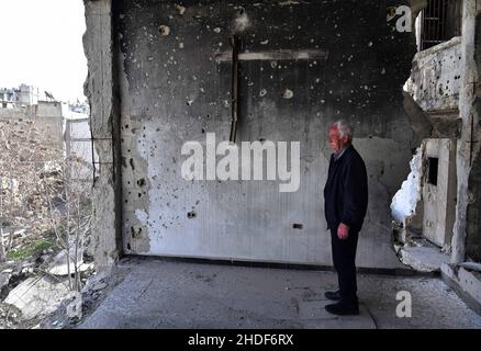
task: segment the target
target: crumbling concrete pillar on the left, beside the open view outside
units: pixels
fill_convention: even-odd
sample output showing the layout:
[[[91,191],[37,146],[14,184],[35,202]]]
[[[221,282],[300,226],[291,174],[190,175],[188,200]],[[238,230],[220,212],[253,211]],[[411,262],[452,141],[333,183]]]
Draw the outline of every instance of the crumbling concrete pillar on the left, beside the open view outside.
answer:
[[[93,185],[92,245],[97,269],[109,269],[122,252],[119,112],[115,97],[115,55],[112,0],[85,0],[87,32],[83,48],[89,75],[90,128],[99,159]]]

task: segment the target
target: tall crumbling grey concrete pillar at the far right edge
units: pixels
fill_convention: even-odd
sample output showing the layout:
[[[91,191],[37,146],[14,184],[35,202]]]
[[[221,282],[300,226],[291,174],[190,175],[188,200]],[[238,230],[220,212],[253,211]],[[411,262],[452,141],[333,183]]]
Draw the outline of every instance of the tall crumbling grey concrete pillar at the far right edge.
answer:
[[[478,4],[477,4],[478,2]],[[468,210],[473,202],[473,186],[470,173],[473,161],[479,157],[481,131],[479,126],[479,101],[481,91],[477,89],[479,81],[476,55],[476,42],[479,41],[481,1],[465,0],[462,11],[462,41],[461,41],[461,88],[459,93],[459,112],[462,121],[461,139],[457,155],[457,207],[452,236],[451,262],[459,263],[466,260],[466,238]],[[478,39],[477,39],[478,36]],[[479,206],[479,204],[477,204]]]

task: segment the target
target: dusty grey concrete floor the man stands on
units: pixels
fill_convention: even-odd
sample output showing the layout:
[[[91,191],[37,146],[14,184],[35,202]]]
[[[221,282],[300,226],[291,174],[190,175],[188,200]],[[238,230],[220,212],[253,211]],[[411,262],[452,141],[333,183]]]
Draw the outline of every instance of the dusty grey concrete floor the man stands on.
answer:
[[[359,274],[360,316],[336,317],[324,310],[331,271],[135,258],[115,270],[125,279],[79,328],[481,328],[437,278]],[[396,317],[399,291],[411,293],[411,318]]]

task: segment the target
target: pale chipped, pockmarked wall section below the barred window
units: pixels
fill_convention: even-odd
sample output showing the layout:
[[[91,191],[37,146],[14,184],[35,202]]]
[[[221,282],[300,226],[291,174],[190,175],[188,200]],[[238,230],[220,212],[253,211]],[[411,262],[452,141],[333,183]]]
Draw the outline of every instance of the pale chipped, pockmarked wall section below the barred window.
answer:
[[[461,78],[461,37],[416,54],[406,91],[426,112],[457,110]]]

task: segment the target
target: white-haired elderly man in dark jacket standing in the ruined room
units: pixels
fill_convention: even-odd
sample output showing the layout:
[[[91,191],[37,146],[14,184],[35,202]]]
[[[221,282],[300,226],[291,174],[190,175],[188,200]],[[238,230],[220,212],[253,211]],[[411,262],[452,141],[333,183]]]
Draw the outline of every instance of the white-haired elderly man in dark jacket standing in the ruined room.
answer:
[[[331,156],[324,188],[325,216],[331,229],[334,268],[339,290],[325,296],[337,301],[325,308],[334,315],[358,315],[356,248],[368,206],[366,166],[353,144],[353,128],[338,121],[329,128]]]

